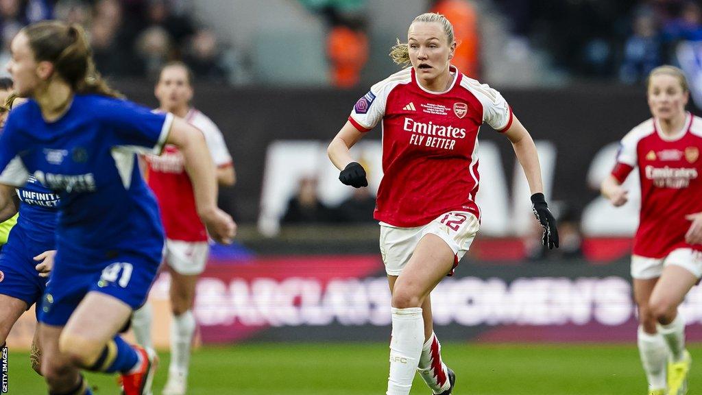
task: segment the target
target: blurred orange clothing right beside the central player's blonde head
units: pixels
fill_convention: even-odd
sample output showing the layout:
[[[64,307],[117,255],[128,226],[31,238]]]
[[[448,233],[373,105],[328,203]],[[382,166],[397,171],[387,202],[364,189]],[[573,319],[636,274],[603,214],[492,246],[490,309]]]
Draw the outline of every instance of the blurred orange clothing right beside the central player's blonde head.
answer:
[[[470,78],[479,78],[480,37],[477,13],[465,0],[440,0],[431,10],[440,13],[453,25],[453,36],[458,42],[451,64]]]

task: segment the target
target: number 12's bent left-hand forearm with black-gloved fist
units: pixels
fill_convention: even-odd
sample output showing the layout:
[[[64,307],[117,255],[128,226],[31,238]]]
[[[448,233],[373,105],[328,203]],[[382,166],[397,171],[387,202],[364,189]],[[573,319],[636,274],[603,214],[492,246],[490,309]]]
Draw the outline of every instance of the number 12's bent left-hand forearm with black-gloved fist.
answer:
[[[359,162],[353,159],[350,153],[351,147],[363,135],[362,131],[359,131],[351,122],[347,121],[331,143],[329,143],[329,147],[326,148],[326,155],[329,155],[329,160],[340,170],[339,181],[354,188],[368,186],[366,170]]]

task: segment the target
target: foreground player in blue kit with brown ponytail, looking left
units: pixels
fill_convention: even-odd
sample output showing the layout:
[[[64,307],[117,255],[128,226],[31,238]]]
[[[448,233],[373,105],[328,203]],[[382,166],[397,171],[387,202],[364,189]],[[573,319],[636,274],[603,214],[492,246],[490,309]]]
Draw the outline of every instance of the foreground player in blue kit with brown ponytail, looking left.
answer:
[[[171,114],[117,98],[95,72],[79,25],[39,22],[11,44],[8,71],[19,96],[0,137],[0,169],[19,157],[60,197],[56,256],[39,312],[41,372],[50,394],[86,394],[79,369],[121,373],[124,394],[148,394],[155,353],[117,332],[147,297],[164,232],[135,153],[165,143],[185,157],[197,212],[212,238],[231,242],[235,224],[216,206],[214,164],[201,132]]]

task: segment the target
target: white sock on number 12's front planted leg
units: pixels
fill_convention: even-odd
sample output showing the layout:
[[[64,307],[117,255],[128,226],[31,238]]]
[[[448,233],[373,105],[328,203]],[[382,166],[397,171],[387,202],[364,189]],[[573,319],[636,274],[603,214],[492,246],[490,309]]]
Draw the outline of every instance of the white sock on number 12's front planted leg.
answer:
[[[421,307],[392,308],[390,377],[386,395],[409,395],[424,343]]]

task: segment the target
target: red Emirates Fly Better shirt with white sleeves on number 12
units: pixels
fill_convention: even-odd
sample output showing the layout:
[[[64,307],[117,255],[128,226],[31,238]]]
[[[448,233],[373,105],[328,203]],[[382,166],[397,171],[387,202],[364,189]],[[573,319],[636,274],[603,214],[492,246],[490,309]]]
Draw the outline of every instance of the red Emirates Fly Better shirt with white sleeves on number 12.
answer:
[[[449,211],[472,212],[478,173],[478,131],[486,122],[498,131],[512,124],[504,98],[451,66],[453,83],[444,92],[418,84],[412,67],[371,87],[350,122],[369,131],[382,122],[383,179],[375,218],[409,228]]]

